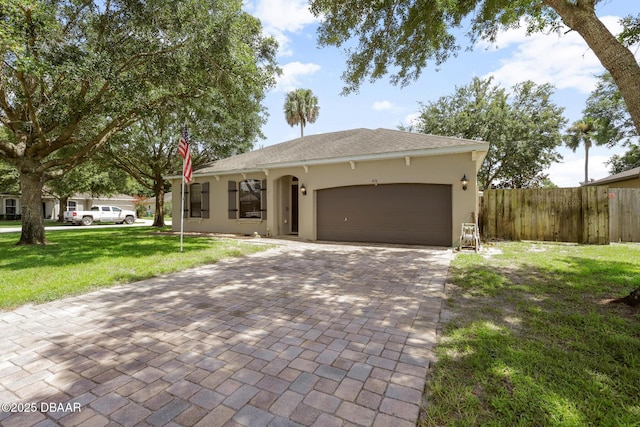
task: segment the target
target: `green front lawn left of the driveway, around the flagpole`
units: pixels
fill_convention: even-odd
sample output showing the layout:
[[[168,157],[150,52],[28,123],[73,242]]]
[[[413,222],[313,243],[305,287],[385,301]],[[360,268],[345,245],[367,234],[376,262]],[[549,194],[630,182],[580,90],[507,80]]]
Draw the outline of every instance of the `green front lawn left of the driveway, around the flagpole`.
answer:
[[[0,234],[0,309],[41,303],[142,280],[265,249],[237,240],[184,237],[152,227],[48,231],[46,246],[16,246],[18,233]]]

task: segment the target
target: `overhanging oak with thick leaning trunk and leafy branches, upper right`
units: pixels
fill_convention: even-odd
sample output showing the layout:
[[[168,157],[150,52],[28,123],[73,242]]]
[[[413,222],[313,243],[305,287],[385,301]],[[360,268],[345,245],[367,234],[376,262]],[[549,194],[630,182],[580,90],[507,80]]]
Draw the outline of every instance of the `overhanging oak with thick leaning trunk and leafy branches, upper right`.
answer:
[[[500,30],[523,23],[530,32],[554,30],[564,24],[582,36],[611,73],[640,130],[640,67],[628,47],[629,42],[640,40],[640,18],[623,21],[625,32],[616,38],[596,15],[596,5],[604,1],[310,0],[310,4],[322,19],[321,45],[343,46],[356,41],[347,49],[345,93],[357,90],[367,77],[375,80],[389,70],[394,73],[392,82],[409,83],[428,63],[441,64],[461,49],[455,33],[463,27],[475,42],[492,40]]]

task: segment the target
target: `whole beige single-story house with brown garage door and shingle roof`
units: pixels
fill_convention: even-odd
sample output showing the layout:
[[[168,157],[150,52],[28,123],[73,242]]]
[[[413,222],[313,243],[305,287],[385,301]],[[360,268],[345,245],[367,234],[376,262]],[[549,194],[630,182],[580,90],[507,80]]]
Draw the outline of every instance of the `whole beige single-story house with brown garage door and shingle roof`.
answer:
[[[488,147],[388,129],[293,139],[194,171],[184,230],[452,246],[461,224],[475,222]],[[168,179],[181,194],[182,177]]]

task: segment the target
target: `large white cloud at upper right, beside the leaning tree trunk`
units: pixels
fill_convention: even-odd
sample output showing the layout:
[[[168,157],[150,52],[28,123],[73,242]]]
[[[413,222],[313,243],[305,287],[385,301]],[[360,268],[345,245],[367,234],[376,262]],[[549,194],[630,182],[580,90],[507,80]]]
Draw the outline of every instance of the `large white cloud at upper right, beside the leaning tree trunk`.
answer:
[[[620,32],[619,18],[601,18],[613,34]],[[525,80],[537,84],[551,83],[556,89],[574,89],[588,94],[597,84],[596,76],[604,71],[600,61],[589,49],[582,37],[569,33],[526,35],[524,27],[498,34],[496,42],[478,43],[477,48],[488,52],[506,51],[509,56],[500,61],[501,66],[489,73],[497,83],[511,87]]]

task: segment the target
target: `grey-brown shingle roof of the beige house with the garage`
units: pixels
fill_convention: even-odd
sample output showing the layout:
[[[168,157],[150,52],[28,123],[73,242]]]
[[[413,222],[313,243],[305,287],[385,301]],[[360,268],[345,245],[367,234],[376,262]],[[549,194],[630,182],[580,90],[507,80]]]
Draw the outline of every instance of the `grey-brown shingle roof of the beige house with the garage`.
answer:
[[[200,168],[194,175],[487,149],[488,143],[482,141],[389,129],[352,129],[305,136],[238,154]]]

